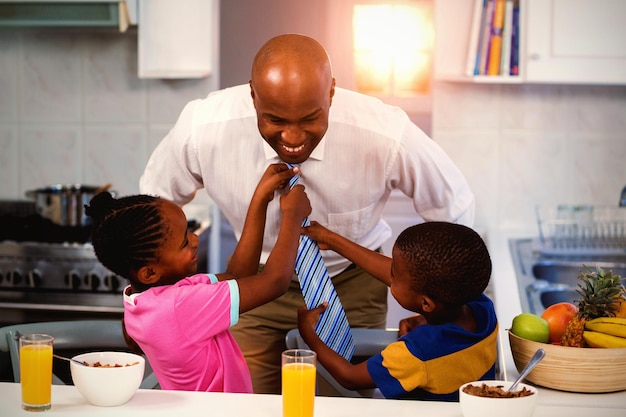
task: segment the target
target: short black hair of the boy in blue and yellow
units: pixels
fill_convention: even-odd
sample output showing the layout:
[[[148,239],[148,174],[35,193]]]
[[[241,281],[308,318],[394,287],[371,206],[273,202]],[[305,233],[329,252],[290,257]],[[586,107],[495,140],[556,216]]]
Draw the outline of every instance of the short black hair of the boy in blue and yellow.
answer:
[[[469,227],[426,222],[404,230],[396,248],[407,261],[411,289],[451,307],[480,295],[491,276],[483,239]]]

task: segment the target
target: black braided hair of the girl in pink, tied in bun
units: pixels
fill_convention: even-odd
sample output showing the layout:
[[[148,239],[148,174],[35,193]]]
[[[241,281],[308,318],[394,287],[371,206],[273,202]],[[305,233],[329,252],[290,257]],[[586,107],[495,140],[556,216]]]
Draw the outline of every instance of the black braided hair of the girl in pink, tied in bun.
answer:
[[[92,244],[102,265],[143,285],[136,280],[136,273],[158,260],[167,232],[162,204],[162,199],[143,194],[116,199],[103,192],[91,199],[85,214],[92,219]]]

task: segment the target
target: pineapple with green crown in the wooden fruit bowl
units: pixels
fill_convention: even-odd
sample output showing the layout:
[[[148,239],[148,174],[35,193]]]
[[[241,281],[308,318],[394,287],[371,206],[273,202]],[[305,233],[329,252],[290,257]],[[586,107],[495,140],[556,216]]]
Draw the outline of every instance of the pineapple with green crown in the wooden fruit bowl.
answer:
[[[563,336],[562,346],[584,347],[583,331],[585,322],[597,317],[614,317],[619,309],[615,301],[624,296],[624,286],[620,283],[621,277],[611,271],[597,268],[592,271],[583,265],[587,272],[581,271],[576,292],[581,298],[577,300],[578,315],[567,324]]]

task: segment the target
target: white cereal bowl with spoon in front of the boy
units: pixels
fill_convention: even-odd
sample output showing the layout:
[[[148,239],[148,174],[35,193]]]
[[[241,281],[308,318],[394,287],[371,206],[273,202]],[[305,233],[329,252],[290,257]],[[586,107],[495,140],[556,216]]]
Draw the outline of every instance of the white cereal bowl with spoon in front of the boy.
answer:
[[[532,385],[520,383],[515,391],[523,387],[533,392],[527,397],[517,398],[488,398],[479,397],[463,392],[467,385],[481,386],[502,386],[508,389],[513,381],[474,381],[463,384],[459,388],[459,402],[464,417],[532,417],[537,405],[537,388]]]

